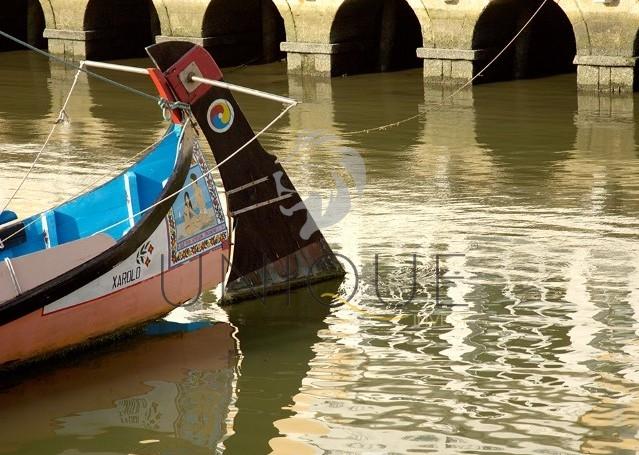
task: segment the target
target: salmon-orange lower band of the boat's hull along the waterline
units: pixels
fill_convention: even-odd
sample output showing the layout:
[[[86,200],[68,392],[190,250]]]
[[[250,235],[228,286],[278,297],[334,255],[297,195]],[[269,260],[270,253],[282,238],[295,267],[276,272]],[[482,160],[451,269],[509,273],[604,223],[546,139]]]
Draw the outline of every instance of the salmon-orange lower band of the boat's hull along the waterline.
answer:
[[[201,256],[202,283],[195,257],[166,271],[163,285],[156,275],[80,305],[48,314],[35,311],[6,324],[0,330],[0,365],[46,356],[165,316],[223,281],[223,255],[228,252],[218,248]]]

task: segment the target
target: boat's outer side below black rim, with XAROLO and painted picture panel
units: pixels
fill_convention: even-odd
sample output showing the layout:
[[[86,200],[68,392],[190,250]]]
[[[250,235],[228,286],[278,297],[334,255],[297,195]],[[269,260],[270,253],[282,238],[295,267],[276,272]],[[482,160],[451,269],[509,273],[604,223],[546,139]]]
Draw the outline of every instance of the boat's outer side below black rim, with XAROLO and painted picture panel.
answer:
[[[223,283],[229,234],[208,170],[195,142],[186,183],[155,231],[98,278],[0,326],[0,366],[45,357],[158,319]],[[92,245],[95,239],[46,250],[40,260],[35,255],[21,258],[25,267],[14,270],[17,281],[37,281],[59,271],[65,262],[81,262],[83,252],[87,254],[82,242]],[[109,247],[106,240],[98,240],[95,248]]]

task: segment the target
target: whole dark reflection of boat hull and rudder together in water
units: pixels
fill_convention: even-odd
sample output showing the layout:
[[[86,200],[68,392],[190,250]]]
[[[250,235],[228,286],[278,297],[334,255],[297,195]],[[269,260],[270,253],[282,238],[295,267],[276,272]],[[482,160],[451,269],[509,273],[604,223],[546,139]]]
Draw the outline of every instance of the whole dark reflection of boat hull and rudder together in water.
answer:
[[[270,452],[330,308],[307,288],[229,307],[231,323],[205,306],[0,376],[0,454]]]

